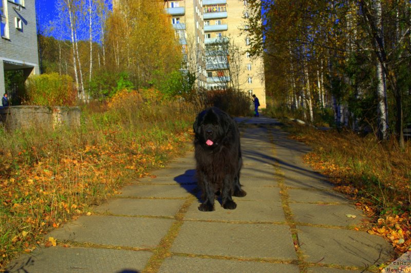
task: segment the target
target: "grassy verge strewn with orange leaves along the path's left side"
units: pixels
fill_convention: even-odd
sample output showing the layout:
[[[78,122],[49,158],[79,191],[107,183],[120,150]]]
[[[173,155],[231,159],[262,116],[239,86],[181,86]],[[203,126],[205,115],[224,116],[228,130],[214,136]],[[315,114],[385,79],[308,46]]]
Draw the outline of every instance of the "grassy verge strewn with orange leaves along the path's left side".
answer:
[[[195,117],[149,89],[82,106],[81,127],[0,130],[0,267],[42,235],[186,151]]]

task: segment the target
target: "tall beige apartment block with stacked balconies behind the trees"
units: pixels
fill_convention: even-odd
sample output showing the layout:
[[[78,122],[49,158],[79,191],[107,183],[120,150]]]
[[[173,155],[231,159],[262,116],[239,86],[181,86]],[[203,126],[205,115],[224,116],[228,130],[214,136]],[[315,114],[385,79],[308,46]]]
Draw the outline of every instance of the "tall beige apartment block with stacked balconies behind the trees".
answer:
[[[255,94],[266,107],[263,58],[246,53],[249,39],[242,31],[248,27],[247,0],[166,0],[164,5],[184,58],[192,61],[190,54],[195,52],[198,86],[234,86]],[[238,50],[236,54],[233,49]]]

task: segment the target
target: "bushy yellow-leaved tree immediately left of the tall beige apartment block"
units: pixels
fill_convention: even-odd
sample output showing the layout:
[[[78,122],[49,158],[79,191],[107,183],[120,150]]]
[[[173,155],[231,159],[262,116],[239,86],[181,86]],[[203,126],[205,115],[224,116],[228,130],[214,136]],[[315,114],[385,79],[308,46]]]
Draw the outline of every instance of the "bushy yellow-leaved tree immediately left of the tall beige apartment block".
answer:
[[[107,20],[108,67],[126,71],[135,87],[159,83],[181,65],[169,15],[158,0],[119,0]]]

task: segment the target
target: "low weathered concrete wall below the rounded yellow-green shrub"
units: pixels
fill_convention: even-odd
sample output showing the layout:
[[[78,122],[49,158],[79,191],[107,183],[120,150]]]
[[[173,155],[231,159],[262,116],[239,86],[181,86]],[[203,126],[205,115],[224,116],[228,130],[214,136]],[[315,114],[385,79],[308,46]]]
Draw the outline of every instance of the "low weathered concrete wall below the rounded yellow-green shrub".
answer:
[[[11,106],[0,108],[0,123],[6,130],[53,130],[61,125],[80,126],[79,107],[66,106]]]

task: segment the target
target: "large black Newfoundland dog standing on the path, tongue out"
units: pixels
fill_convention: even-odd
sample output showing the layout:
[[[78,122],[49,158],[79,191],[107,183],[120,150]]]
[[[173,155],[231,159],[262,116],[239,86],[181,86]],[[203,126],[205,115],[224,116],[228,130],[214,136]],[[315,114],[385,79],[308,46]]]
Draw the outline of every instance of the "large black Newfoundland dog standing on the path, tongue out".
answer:
[[[235,121],[219,108],[199,113],[193,124],[201,211],[213,211],[214,199],[221,195],[225,209],[235,209],[233,196],[243,197],[239,177],[242,166],[240,134]]]

